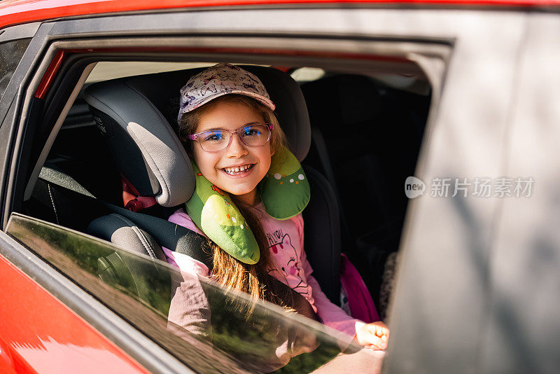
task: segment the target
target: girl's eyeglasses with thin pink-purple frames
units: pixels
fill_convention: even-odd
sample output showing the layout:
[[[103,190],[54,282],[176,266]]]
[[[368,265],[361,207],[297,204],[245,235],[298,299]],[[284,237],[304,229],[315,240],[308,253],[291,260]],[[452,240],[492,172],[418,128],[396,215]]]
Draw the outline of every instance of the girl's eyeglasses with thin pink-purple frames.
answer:
[[[189,135],[188,139],[197,140],[204,151],[218,152],[228,148],[232,142],[232,135],[237,133],[243,144],[256,147],[267,144],[273,127],[272,123],[261,123],[245,125],[237,130],[214,129]]]

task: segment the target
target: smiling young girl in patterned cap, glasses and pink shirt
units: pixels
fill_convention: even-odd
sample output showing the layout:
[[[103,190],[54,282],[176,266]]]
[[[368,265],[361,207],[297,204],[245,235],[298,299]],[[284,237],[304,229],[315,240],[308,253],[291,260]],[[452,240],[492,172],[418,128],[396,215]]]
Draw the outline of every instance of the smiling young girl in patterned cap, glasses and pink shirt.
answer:
[[[164,249],[167,260],[182,272],[211,277],[226,289],[318,317],[323,324],[353,336],[360,345],[385,349],[389,331],[383,322],[365,324],[353,319],[321,292],[303,249],[301,214],[280,221],[269,216],[260,202],[257,185],[269,171],[272,155],[286,143],[274,108],[260,80],[231,64],[210,67],[182,88],[179,137],[202,175],[230,194],[255,235],[260,261],[254,265],[238,261],[211,241],[211,273],[200,261]],[[203,234],[183,209],[169,221]],[[293,298],[274,292],[277,287],[271,275],[303,296],[311,308],[305,312],[306,305],[290,305]],[[172,300],[169,321],[203,334],[200,326],[209,314],[207,305],[197,302],[204,299],[202,291],[183,288],[177,289]]]

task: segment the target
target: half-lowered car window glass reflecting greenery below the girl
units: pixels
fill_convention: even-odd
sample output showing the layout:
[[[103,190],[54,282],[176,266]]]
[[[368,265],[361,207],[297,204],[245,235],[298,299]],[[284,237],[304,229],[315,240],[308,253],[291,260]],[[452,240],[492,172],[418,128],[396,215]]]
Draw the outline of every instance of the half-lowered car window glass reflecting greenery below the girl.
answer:
[[[207,279],[190,279],[172,265],[89,235],[22,214],[12,214],[6,232],[198,372],[309,373],[335,358],[341,347],[371,355],[316,321],[271,303],[252,304],[243,293],[225,293]],[[176,282],[202,286],[211,311],[206,335],[168,323]],[[249,308],[254,310],[248,316]],[[285,344],[295,357],[271,361],[279,337],[288,336],[293,340]]]

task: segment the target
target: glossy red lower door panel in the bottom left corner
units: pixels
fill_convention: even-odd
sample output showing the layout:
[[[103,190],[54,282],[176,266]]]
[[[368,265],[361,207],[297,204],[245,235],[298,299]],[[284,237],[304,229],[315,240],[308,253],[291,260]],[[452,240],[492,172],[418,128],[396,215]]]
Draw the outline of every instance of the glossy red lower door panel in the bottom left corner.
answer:
[[[3,256],[0,284],[2,373],[147,373]]]

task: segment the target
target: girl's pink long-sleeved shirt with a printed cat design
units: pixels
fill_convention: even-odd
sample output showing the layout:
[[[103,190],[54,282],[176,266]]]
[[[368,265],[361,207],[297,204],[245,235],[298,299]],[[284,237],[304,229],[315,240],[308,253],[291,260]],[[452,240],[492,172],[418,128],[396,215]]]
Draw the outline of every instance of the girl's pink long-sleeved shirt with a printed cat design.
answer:
[[[323,321],[323,324],[348,335],[356,335],[356,329],[363,326],[364,322],[353,319],[340,307],[331,303],[321,291],[321,286],[311,275],[313,270],[303,250],[303,219],[301,214],[280,221],[266,214],[262,204],[257,206],[257,210],[260,213],[260,222],[267,237],[271,257],[277,267],[276,269],[270,268],[269,274],[304,296]],[[172,214],[169,221],[202,234],[183,209],[179,209]],[[200,261],[185,254],[170,251],[167,248],[163,248],[163,251],[167,257],[167,262],[178,266],[182,272],[204,277],[209,275],[209,269]]]

